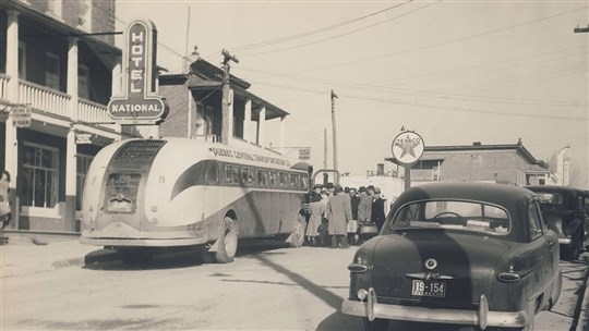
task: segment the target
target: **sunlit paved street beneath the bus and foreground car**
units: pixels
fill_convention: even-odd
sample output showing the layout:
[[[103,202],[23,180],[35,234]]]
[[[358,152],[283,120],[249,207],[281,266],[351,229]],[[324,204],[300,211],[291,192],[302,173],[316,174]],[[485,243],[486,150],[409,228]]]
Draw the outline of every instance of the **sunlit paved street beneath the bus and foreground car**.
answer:
[[[360,319],[339,312],[348,291],[346,266],[356,247],[292,249],[250,243],[229,265],[203,265],[185,252],[130,267],[113,260],[109,250],[76,241],[37,243],[41,245],[15,238],[0,246],[1,330],[362,327]],[[587,294],[587,268],[585,261],[562,263],[565,282],[560,304],[537,317],[537,330],[584,330],[588,303],[579,295]],[[390,330],[440,330],[440,326],[393,323]]]

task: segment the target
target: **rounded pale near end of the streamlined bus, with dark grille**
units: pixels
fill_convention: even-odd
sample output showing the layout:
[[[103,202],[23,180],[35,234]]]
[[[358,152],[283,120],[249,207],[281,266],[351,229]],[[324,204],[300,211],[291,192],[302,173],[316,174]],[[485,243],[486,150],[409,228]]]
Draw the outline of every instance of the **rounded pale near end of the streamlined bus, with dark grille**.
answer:
[[[204,187],[173,193],[175,179],[199,161],[193,146],[163,139],[103,148],[86,175],[81,242],[107,247],[206,243],[197,192]]]

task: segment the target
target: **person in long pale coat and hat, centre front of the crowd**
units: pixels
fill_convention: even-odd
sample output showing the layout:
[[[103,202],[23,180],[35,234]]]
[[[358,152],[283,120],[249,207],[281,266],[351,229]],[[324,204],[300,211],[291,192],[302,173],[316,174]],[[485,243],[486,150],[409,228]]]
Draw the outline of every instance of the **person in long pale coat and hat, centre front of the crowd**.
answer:
[[[334,195],[327,201],[326,217],[329,220],[328,229],[332,236],[332,248],[350,247],[348,245],[348,221],[351,220],[350,199],[340,185],[334,187]]]

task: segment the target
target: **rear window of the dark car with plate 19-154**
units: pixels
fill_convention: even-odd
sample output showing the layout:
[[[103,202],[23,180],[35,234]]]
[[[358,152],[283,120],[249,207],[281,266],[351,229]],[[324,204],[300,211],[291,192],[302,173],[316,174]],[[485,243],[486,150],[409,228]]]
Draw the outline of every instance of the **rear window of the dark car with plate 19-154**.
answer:
[[[507,211],[480,201],[425,200],[402,206],[390,223],[398,229],[453,229],[492,235],[509,233]]]

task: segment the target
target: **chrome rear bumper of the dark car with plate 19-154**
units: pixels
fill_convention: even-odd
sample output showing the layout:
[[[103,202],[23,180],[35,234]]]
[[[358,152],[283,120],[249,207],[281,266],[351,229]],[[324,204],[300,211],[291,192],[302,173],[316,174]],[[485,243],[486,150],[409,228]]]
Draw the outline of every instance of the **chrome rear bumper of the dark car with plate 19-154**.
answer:
[[[530,318],[525,310],[490,311],[484,295],[481,295],[479,310],[474,311],[378,304],[373,289],[369,290],[365,302],[345,299],[341,304],[341,312],[365,317],[369,320],[382,318],[430,323],[470,324],[478,326],[481,330],[486,327],[522,328],[528,324]]]

